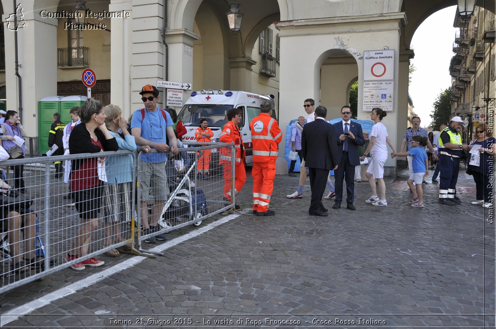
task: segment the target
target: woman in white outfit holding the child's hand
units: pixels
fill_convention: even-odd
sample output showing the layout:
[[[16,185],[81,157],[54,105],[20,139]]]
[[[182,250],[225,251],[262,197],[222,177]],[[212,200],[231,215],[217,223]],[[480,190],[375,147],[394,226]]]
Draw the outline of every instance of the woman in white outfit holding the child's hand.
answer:
[[[373,108],[371,119],[375,123],[372,126],[371,131],[371,142],[365,151],[365,154],[360,158],[360,161],[364,161],[365,157],[369,152],[372,155],[372,161],[369,164],[369,169],[367,169],[366,177],[369,180],[369,184],[371,185],[372,196],[367,200],[367,203],[372,203],[374,206],[387,206],[386,200],[386,185],[384,184],[384,163],[386,162],[388,152],[387,145],[396,152],[393,143],[389,139],[387,135],[386,126],[380,122],[387,113],[379,108]],[[387,145],[386,145],[387,143]],[[391,156],[393,157],[393,156]],[[394,158],[394,157],[393,157]],[[377,189],[375,187],[374,178],[377,180],[377,185],[379,185],[379,196],[377,196]]]

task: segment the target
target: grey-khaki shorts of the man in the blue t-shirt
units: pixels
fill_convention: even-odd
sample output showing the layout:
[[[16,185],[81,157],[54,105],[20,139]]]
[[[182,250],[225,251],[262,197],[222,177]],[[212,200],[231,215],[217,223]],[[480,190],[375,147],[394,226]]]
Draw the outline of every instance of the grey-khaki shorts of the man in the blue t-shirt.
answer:
[[[150,195],[153,195],[155,200],[167,200],[169,186],[167,185],[165,163],[141,162],[139,171],[141,175],[139,179],[141,201],[150,199]]]

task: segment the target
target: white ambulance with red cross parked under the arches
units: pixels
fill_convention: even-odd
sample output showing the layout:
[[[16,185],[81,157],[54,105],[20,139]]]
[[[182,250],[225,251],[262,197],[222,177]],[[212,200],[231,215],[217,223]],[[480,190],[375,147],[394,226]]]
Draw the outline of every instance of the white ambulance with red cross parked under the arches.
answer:
[[[253,147],[249,123],[260,114],[260,104],[263,102],[269,102],[272,105],[274,109],[272,117],[277,119],[274,95],[257,95],[245,91],[214,91],[212,89],[192,92],[178,114],[178,120],[183,121],[187,131],[186,135],[183,136],[183,141],[194,142],[196,140],[194,132],[200,126],[200,118],[206,118],[208,127],[214,133],[211,140],[218,142],[222,127],[228,122],[227,111],[232,108],[241,109],[243,114],[239,128],[247,154],[247,164],[251,164],[253,162]],[[217,167],[218,151],[212,150],[212,156],[214,167]]]

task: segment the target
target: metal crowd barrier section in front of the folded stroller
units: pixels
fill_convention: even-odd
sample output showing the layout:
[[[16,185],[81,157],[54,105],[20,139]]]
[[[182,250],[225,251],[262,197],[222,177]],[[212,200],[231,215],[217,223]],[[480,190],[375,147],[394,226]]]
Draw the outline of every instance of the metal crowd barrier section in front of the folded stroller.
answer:
[[[235,198],[226,200],[224,198],[224,180],[229,177],[229,194],[234,195],[234,166],[236,151],[234,143],[196,143],[184,142],[186,148],[180,148],[179,155],[172,157],[165,164],[167,181],[154,181],[153,188],[142,189],[143,179],[153,181],[157,176],[154,174],[157,167],[149,162],[158,161],[159,155],[153,151],[148,159],[142,159],[143,153],[137,157],[137,181],[139,195],[139,210],[137,212],[136,226],[144,228],[138,234],[138,245],[140,252],[163,255],[144,250],[142,247],[151,237],[158,234],[168,233],[174,229],[187,225],[200,225],[201,221],[233,208]],[[223,148],[224,157],[230,159],[229,165],[219,164],[219,150]],[[226,156],[228,154],[228,156]],[[208,175],[203,175],[204,168],[198,169],[198,163],[208,161],[210,168]],[[174,160],[175,159],[175,160]],[[147,162],[147,160],[149,162]],[[184,167],[177,168],[175,161],[179,161]],[[182,163],[181,163],[182,161]],[[228,171],[226,171],[228,170]],[[225,175],[226,174],[226,175]],[[146,184],[146,182],[145,182]],[[145,186],[148,187],[148,186]],[[148,230],[150,229],[150,230]]]

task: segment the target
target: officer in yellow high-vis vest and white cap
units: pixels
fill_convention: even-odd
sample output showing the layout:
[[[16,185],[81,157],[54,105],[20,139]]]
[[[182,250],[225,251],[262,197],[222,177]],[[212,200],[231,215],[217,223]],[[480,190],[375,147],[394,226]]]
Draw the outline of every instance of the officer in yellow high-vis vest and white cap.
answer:
[[[458,170],[460,158],[463,151],[470,150],[468,145],[462,145],[462,138],[457,131],[463,124],[459,116],[454,116],[449,125],[439,134],[438,150],[440,178],[439,178],[439,203],[441,205],[452,206],[460,204],[461,201],[456,196],[456,182],[458,180]]]

